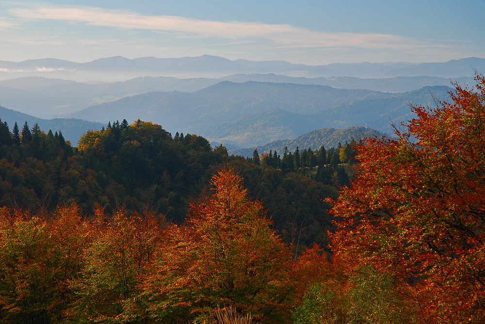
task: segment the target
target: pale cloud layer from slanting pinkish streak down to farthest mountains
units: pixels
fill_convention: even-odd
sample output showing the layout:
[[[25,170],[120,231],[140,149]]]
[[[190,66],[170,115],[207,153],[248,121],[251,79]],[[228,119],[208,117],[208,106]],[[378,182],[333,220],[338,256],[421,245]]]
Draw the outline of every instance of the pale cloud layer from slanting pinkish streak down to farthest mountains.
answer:
[[[129,10],[16,0],[0,3],[0,60],[56,57],[87,62],[115,55],[210,54],[319,65],[436,62],[481,56],[483,52],[483,46],[475,43],[388,33],[330,32],[281,23],[143,15]]]

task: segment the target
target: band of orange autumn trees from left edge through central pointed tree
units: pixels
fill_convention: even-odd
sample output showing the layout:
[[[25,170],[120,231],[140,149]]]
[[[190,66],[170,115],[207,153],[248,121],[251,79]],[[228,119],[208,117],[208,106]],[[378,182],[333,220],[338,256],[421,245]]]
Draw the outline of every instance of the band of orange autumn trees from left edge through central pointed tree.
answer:
[[[179,226],[149,211],[98,207],[81,219],[75,205],[47,217],[3,208],[0,323],[186,323],[221,309],[285,322],[290,249],[241,182],[219,171],[214,194]]]

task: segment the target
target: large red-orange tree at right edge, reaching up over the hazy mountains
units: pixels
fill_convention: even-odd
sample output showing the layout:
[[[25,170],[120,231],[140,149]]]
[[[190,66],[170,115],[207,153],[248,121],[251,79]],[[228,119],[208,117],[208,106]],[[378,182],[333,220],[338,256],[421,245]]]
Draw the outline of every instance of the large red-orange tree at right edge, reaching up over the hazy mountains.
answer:
[[[358,146],[333,212],[336,253],[413,288],[423,323],[485,321],[485,78]],[[408,296],[409,297],[409,296]]]

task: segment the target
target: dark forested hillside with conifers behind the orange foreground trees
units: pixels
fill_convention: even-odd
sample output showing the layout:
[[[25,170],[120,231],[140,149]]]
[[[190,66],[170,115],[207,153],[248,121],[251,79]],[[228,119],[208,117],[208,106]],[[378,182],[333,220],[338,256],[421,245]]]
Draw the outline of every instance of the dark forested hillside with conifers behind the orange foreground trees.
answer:
[[[212,149],[200,136],[177,133],[172,137],[160,125],[140,120],[87,131],[77,148],[65,142],[61,132],[46,134],[37,124],[32,129],[17,125],[16,130],[14,125],[12,134],[5,123],[0,127],[0,204],[21,205],[33,212],[76,203],[89,216],[97,205],[109,210],[123,206],[138,212],[149,209],[181,223],[189,201],[203,195],[211,174],[222,164],[239,170],[251,196],[264,201],[275,228],[288,243],[300,229],[300,246],[295,247],[300,249],[317,237],[321,240],[323,228],[331,226],[322,199],[336,197],[339,185],[348,183],[343,167],[337,168],[338,159],[318,182],[291,173],[305,173],[306,168],[315,173],[318,165],[322,171],[333,151],[328,158],[325,151],[323,159],[316,151],[311,157],[306,153],[301,161],[300,155],[296,160],[291,152],[253,161],[228,156],[223,146]]]

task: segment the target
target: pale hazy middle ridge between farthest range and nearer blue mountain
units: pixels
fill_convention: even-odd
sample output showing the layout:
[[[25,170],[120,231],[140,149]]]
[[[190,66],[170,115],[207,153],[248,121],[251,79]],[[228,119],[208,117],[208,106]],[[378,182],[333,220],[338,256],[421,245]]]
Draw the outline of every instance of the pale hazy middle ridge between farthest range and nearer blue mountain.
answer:
[[[46,77],[20,77],[0,81],[0,104],[39,118],[54,118],[93,105],[149,92],[194,92],[221,81],[274,82],[326,85],[345,89],[406,92],[424,86],[450,85],[441,77],[288,77],[275,74],[238,74],[221,78],[137,77],[112,83],[81,83]],[[460,84],[473,84],[471,77],[456,78]]]

